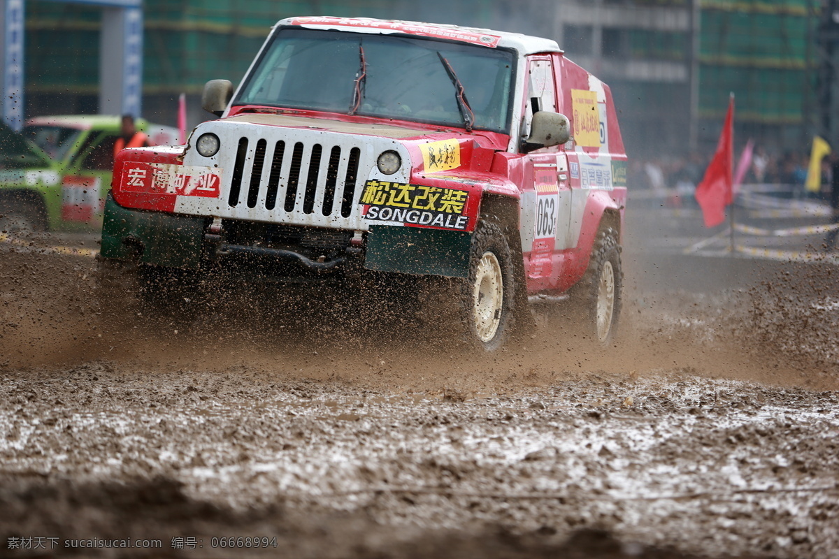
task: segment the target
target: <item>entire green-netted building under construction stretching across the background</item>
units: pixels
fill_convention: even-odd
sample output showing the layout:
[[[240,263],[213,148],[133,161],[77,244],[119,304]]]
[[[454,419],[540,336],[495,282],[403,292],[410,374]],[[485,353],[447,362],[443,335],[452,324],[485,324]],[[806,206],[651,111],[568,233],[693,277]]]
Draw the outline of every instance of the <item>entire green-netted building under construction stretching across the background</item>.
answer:
[[[819,94],[832,79],[820,39],[826,2],[145,0],[143,114],[174,124],[177,96],[185,92],[190,125],[209,117],[197,101],[204,83],[237,83],[280,18],[363,16],[556,39],[572,60],[612,86],[633,156],[710,151],[730,92],[738,144],[753,137],[770,151],[803,151],[824,127],[829,111],[819,104],[836,103]],[[101,21],[90,5],[28,1],[27,116],[99,110],[99,83],[107,80],[97,64]]]

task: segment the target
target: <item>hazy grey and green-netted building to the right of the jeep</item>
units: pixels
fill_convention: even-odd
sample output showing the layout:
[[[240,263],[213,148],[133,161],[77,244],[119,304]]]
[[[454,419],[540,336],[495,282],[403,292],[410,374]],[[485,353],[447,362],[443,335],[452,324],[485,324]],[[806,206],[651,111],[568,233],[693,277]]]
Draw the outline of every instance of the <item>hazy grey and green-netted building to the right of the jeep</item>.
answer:
[[[779,151],[816,127],[815,0],[586,0],[556,10],[571,58],[612,85],[628,150],[711,150],[735,96],[735,137]]]

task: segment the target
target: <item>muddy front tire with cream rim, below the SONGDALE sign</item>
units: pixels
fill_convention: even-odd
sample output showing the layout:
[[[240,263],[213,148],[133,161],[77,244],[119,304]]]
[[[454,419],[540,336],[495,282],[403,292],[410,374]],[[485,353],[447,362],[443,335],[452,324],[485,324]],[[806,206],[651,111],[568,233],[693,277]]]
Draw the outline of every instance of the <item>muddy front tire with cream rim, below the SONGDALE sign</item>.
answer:
[[[513,329],[513,260],[501,227],[478,222],[469,253],[469,277],[461,285],[461,323],[466,343],[494,351]]]

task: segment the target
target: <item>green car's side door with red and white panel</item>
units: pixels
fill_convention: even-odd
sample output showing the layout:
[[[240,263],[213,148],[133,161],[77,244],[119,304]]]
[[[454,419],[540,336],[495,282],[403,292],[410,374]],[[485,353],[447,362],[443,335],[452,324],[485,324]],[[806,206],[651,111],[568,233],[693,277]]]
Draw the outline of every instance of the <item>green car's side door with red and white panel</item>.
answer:
[[[96,227],[102,221],[117,132],[91,131],[73,154],[61,184],[61,219]]]

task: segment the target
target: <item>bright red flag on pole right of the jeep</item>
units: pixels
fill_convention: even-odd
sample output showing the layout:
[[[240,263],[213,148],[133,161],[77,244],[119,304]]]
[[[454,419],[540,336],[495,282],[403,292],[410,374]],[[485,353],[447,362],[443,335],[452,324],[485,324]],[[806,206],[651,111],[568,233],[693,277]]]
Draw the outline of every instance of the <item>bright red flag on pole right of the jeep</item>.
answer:
[[[734,96],[728,101],[726,122],[722,125],[717,152],[696,186],[696,201],[702,208],[706,227],[716,227],[726,220],[726,206],[732,203],[732,167],[734,131]]]

